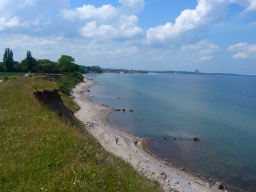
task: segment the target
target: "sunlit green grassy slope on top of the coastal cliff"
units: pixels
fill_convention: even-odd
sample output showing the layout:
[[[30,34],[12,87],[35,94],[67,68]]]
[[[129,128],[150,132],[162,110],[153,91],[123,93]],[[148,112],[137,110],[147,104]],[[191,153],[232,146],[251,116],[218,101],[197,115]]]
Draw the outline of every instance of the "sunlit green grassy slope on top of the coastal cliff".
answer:
[[[159,191],[33,97],[56,86],[25,77],[0,83],[0,191]]]

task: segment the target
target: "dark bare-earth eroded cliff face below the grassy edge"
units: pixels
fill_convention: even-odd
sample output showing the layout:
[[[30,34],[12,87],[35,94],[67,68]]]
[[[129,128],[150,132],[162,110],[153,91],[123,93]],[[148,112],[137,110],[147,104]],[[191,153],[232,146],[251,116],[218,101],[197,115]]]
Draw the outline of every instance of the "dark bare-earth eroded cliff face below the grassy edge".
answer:
[[[62,118],[70,122],[72,125],[77,125],[76,117],[63,103],[58,89],[35,90],[36,98],[42,102],[48,109],[55,111]]]

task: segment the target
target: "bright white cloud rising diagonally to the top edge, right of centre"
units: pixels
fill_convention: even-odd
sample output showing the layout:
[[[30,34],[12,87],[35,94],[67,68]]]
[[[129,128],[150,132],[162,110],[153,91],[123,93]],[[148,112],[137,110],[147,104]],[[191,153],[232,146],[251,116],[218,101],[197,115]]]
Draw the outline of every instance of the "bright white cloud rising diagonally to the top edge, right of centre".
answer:
[[[184,10],[172,24],[150,28],[147,31],[147,44],[187,44],[205,36],[205,29],[218,22],[228,5],[228,0],[198,0],[195,10]]]

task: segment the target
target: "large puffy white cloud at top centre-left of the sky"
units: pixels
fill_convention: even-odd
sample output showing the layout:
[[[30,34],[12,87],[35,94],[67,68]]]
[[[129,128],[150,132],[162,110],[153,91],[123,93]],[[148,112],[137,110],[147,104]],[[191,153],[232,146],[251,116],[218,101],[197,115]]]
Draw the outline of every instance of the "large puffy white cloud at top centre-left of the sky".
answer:
[[[63,10],[61,15],[71,22],[78,21],[81,26],[79,33],[85,38],[124,41],[141,37],[143,29],[138,26],[138,17],[131,15],[129,9],[143,8],[144,1],[122,0],[120,3],[122,6],[117,7],[111,4],[98,8],[84,5],[74,10]]]

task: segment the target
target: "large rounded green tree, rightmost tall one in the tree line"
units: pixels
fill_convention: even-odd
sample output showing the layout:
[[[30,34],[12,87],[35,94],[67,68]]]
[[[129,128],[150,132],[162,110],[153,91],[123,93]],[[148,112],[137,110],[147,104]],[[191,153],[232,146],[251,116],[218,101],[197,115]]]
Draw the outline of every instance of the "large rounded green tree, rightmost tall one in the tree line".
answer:
[[[72,58],[72,56],[62,55],[54,68],[54,72],[60,72],[61,74],[66,72],[79,72],[79,65],[75,63],[75,59]]]

